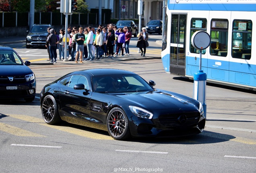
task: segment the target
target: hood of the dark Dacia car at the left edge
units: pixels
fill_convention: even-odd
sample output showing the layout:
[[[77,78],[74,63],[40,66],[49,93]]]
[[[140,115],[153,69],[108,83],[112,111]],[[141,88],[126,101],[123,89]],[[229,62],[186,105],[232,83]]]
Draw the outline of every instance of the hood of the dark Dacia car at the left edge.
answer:
[[[2,76],[27,75],[32,73],[32,70],[25,65],[0,65],[0,74]]]

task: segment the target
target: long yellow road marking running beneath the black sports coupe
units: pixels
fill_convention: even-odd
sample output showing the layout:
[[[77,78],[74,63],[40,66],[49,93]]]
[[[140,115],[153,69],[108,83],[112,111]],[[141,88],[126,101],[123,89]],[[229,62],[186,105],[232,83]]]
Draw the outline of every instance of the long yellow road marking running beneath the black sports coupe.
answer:
[[[89,132],[89,131],[85,131],[85,130],[81,130],[81,129],[76,129],[76,128],[72,128],[72,127],[47,125],[43,121],[43,118],[31,117],[31,116],[28,116],[28,115],[7,115],[7,116],[10,116],[10,117],[13,117],[13,118],[16,118],[16,119],[21,119],[23,121],[28,121],[28,122],[31,122],[31,123],[37,123],[39,125],[50,127],[52,129],[57,129],[57,130],[60,130],[60,131],[64,131],[64,132],[67,132],[67,133],[71,133],[71,134],[74,134],[74,135],[87,137],[87,138],[91,138],[91,139],[104,139],[104,140],[112,140],[113,139],[110,136],[101,135],[101,134],[97,134],[97,133],[93,133],[93,132]]]

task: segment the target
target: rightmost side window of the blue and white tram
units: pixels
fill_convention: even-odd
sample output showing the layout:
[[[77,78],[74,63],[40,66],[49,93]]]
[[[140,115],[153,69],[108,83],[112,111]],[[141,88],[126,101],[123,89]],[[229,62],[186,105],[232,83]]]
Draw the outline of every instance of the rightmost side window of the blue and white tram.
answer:
[[[232,57],[249,60],[252,50],[252,20],[233,20]]]

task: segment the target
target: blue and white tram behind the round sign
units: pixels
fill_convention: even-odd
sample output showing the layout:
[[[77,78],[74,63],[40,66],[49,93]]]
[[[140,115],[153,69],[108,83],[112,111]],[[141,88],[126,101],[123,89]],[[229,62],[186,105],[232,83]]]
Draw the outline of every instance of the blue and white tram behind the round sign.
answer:
[[[199,51],[194,32],[211,36],[202,51],[207,82],[256,91],[256,0],[167,0],[162,62],[166,72],[193,78]]]

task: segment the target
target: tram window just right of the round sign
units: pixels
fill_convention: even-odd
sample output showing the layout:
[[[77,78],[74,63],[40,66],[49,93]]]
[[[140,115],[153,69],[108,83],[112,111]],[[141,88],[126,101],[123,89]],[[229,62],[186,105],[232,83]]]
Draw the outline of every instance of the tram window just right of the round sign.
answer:
[[[227,19],[211,20],[211,55],[227,56],[228,26]]]

